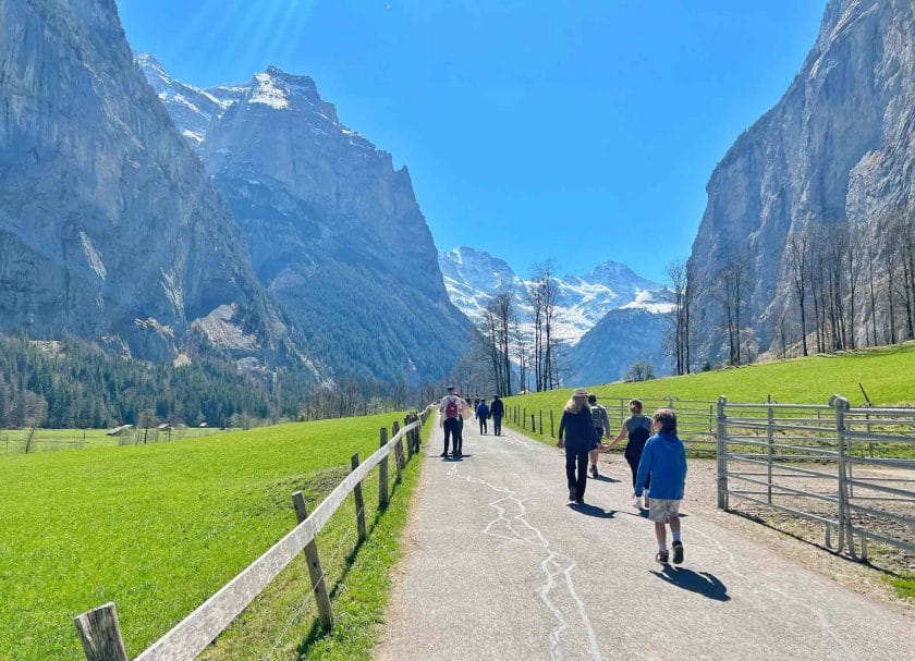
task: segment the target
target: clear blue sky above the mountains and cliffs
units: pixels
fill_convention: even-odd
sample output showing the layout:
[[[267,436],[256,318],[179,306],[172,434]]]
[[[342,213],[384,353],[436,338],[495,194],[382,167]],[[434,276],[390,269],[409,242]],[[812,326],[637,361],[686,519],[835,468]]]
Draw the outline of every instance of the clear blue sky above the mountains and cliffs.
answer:
[[[119,0],[135,50],[207,86],[313,76],[406,164],[441,248],[525,273],[684,258],[705,185],[782,95],[826,0]]]

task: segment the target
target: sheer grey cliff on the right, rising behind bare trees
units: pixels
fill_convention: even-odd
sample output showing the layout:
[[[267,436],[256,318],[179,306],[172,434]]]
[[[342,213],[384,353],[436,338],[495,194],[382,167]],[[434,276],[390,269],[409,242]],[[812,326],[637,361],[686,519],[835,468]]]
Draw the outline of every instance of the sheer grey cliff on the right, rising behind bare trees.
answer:
[[[913,208],[913,174],[915,3],[831,0],[784,97],[737,138],[707,186],[690,267],[698,341],[712,360],[724,358],[723,269],[741,265],[742,326],[765,352],[791,305],[790,236]]]

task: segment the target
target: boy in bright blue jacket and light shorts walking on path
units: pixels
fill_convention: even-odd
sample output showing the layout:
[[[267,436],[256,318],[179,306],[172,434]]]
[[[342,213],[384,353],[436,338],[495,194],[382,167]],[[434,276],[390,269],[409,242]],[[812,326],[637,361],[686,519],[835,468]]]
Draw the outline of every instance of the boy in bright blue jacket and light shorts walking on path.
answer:
[[[655,522],[658,538],[658,554],[655,560],[667,564],[670,554],[667,548],[667,528],[673,534],[673,563],[683,562],[683,542],[680,540],[680,501],[686,483],[686,449],[676,437],[676,415],[670,408],[655,413],[651,423],[655,433],[645,443],[638,475],[635,478],[635,495],[640,497],[645,482],[651,477],[651,506],[648,518]]]

